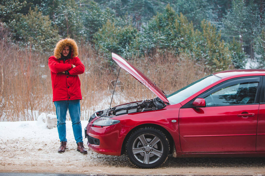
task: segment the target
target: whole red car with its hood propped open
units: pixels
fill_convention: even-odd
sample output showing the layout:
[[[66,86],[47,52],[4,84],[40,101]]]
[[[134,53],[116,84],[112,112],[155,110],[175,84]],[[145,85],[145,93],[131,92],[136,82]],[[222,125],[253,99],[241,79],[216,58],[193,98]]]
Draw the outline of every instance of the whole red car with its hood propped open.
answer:
[[[85,128],[93,151],[127,154],[140,168],[160,166],[169,154],[265,156],[265,70],[217,72],[165,95],[128,61],[112,59],[157,98],[95,112]]]

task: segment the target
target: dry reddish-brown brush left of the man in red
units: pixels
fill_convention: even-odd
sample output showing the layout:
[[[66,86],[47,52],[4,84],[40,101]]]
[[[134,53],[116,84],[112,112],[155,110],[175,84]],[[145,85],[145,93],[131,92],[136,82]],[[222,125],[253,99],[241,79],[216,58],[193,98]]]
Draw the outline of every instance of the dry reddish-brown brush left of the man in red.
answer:
[[[11,46],[3,55],[5,109],[1,120],[36,120],[49,90],[43,58],[27,46]]]

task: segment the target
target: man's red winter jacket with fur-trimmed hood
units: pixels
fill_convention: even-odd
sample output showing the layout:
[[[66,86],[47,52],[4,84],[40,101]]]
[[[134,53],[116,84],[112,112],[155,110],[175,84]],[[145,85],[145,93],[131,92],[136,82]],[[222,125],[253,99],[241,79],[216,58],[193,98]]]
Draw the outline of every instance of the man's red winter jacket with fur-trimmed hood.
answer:
[[[65,46],[71,47],[71,58],[64,61],[59,58]],[[78,75],[84,73],[85,67],[77,55],[78,47],[75,41],[66,38],[57,43],[54,56],[49,57],[53,101],[82,99]],[[72,68],[72,65],[75,65],[75,68]],[[68,71],[69,75],[62,73],[65,71]]]

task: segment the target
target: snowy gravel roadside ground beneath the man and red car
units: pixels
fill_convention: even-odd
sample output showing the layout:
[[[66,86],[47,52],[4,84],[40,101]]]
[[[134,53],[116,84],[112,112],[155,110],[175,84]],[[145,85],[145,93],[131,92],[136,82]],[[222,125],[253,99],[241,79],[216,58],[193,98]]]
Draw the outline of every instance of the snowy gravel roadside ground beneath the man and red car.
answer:
[[[85,127],[87,121],[82,122]],[[139,169],[126,155],[110,156],[88,150],[83,155],[67,122],[67,150],[59,154],[57,129],[35,122],[12,127],[0,123],[0,172],[64,173],[88,175],[265,175],[264,158],[174,158],[156,169]],[[26,128],[27,127],[27,128]],[[28,135],[27,135],[28,134]],[[34,135],[29,135],[34,134]],[[9,137],[8,137],[9,136]],[[84,139],[84,143],[87,139]],[[88,148],[88,147],[86,147]]]

